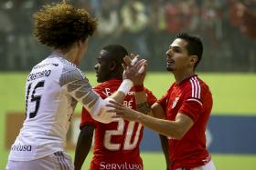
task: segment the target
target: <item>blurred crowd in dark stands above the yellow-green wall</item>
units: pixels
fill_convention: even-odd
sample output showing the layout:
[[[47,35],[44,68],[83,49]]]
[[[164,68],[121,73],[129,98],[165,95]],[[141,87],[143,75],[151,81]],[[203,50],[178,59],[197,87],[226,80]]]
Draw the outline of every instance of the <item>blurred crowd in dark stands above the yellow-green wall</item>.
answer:
[[[50,0],[0,1],[2,71],[29,70],[48,55],[32,34],[33,14]],[[57,1],[56,1],[57,2]],[[58,1],[59,2],[59,1]],[[199,71],[256,72],[256,40],[240,29],[238,4],[256,13],[255,0],[70,0],[98,19],[88,56],[81,64],[92,70],[103,45],[124,45],[149,62],[149,70],[165,70],[165,51],[176,33],[200,35],[204,59]],[[253,21],[251,21],[253,23]],[[256,21],[254,21],[256,22]]]

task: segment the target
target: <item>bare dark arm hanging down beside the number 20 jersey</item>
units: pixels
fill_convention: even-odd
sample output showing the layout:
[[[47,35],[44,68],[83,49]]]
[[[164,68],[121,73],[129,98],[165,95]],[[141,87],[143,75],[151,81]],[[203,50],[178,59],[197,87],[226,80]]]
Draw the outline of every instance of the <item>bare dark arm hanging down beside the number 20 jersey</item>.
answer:
[[[81,166],[83,165],[86,156],[90,152],[93,129],[94,127],[92,125],[86,125],[80,131],[74,160],[75,170],[81,169]]]

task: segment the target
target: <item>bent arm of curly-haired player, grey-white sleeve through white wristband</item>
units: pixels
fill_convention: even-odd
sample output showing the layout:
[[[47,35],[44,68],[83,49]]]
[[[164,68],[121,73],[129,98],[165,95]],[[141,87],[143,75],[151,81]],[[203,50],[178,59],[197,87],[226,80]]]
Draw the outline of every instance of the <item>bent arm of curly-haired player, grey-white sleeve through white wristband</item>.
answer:
[[[130,73],[130,72],[129,72]],[[132,72],[130,73],[133,77]],[[110,123],[112,121],[112,114],[106,113],[109,98],[103,100],[101,96],[97,95],[86,77],[84,77],[79,69],[70,70],[64,73],[59,81],[59,85],[66,88],[67,93],[76,101],[80,102],[91,114],[92,118],[101,123]],[[118,102],[123,102],[124,96],[130,91],[133,82],[130,79],[124,79],[120,85],[117,93],[110,98]]]

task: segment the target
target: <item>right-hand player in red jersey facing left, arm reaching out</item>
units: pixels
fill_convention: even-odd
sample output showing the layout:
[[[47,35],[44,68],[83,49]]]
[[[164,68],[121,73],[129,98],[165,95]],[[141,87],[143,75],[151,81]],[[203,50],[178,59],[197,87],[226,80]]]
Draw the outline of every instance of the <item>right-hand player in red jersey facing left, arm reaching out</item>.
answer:
[[[213,105],[208,85],[196,74],[201,60],[203,45],[199,37],[182,33],[176,35],[166,52],[166,68],[175,76],[176,82],[159,99],[148,114],[144,115],[116,102],[111,102],[114,117],[136,121],[161,135],[167,169],[172,170],[215,170],[206,148],[206,127]],[[140,79],[143,82],[144,77]],[[137,80],[136,80],[137,81]],[[144,91],[136,98],[144,103]],[[167,141],[165,141],[165,139]],[[166,143],[165,143],[166,142]],[[167,145],[165,145],[167,144]]]

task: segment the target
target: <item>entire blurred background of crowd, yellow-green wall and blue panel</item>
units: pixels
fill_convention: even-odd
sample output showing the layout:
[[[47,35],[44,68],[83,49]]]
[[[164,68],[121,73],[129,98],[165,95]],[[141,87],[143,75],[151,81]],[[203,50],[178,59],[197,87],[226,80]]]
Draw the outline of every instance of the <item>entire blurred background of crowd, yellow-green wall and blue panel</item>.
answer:
[[[23,122],[27,73],[50,53],[33,36],[33,14],[56,2],[60,0],[0,0],[0,169],[5,169],[10,145]],[[91,85],[97,85],[94,65],[101,48],[120,44],[148,60],[144,84],[159,98],[174,81],[165,71],[168,46],[179,32],[199,35],[204,55],[197,71],[214,97],[206,132],[208,149],[217,169],[256,169],[256,0],[68,2],[99,21],[80,65]],[[80,109],[79,105],[68,135],[72,156]],[[145,170],[165,169],[159,139],[147,128],[141,148]]]

